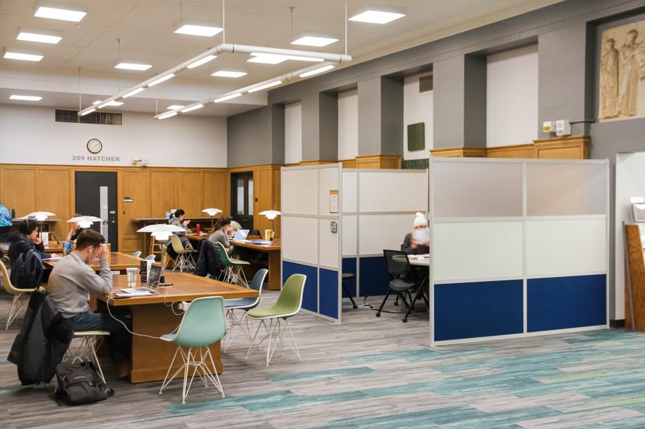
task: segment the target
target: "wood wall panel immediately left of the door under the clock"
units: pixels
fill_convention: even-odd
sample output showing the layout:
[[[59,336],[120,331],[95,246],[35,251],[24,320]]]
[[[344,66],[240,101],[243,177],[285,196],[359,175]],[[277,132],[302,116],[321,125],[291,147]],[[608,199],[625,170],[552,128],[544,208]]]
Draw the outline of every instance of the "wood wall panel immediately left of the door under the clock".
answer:
[[[64,240],[69,231],[67,219],[74,214],[70,212],[69,169],[39,168],[36,175],[36,211],[56,213],[61,221],[52,225],[52,230]]]

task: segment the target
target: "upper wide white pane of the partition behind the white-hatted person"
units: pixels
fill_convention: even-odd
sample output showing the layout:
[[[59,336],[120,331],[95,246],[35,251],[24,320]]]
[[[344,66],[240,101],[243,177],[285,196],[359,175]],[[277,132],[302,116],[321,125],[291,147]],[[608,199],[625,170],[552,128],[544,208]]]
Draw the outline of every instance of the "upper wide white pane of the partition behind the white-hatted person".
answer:
[[[428,174],[425,170],[361,171],[361,213],[369,211],[421,211],[428,207]]]

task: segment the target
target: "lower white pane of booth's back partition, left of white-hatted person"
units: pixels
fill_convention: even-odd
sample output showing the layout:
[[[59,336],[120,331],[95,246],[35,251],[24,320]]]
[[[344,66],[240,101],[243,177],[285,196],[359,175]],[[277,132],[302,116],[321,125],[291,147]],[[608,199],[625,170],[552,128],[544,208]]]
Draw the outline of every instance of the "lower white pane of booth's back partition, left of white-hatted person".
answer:
[[[358,217],[360,255],[383,255],[383,249],[398,251],[405,234],[412,232],[414,214],[363,215]]]

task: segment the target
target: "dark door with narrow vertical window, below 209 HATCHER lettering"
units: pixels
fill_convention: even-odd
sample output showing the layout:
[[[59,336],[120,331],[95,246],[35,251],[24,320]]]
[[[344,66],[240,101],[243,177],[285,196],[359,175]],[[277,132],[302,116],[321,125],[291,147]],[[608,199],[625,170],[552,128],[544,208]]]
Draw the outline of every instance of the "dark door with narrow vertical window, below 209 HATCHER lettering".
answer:
[[[112,251],[118,251],[116,172],[76,171],[74,182],[76,213],[103,219],[102,223],[94,223],[92,229],[103,234]]]

